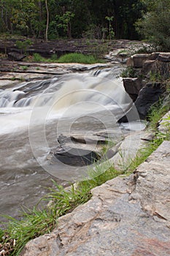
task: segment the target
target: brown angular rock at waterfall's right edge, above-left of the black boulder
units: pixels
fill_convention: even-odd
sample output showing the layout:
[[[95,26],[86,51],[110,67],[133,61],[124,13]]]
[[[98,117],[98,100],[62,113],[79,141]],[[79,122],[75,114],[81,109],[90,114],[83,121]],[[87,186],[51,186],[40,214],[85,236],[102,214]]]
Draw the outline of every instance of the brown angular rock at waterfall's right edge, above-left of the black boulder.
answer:
[[[139,91],[142,89],[143,83],[139,78],[123,78],[123,86],[131,99],[135,101]]]

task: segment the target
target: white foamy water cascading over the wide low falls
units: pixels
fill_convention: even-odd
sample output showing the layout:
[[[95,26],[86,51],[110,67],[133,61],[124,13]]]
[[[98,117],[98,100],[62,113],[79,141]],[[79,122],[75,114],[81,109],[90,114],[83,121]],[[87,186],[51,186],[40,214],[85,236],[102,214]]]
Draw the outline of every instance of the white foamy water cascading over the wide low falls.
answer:
[[[131,102],[120,78],[109,75],[72,74],[47,81],[20,83],[0,91],[0,134],[28,129],[32,113],[35,124],[103,110],[125,111]]]

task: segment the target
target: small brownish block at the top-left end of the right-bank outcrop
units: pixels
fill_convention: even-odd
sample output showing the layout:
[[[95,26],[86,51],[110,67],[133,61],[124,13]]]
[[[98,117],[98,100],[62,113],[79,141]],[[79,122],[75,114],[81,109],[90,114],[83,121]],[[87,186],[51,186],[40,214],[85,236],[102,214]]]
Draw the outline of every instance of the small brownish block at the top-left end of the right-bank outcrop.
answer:
[[[129,58],[126,62],[128,67],[139,68],[143,67],[143,62],[149,59],[151,54],[144,53],[144,54],[134,54]]]

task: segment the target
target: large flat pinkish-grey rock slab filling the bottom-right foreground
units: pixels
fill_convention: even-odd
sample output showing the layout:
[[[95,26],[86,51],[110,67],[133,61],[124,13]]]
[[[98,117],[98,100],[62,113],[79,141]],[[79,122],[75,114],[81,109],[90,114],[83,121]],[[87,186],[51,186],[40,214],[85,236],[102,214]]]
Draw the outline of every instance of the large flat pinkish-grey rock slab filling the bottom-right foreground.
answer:
[[[23,256],[169,256],[170,142],[164,141],[131,176],[92,189],[88,203],[29,241]]]

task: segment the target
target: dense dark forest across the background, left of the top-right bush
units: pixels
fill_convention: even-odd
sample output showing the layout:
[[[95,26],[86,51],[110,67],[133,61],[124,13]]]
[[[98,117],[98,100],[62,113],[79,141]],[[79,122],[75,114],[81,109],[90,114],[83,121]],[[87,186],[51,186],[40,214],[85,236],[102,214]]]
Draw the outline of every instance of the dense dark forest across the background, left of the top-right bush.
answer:
[[[96,39],[135,39],[138,36],[134,22],[144,8],[139,0],[47,0],[45,3],[45,0],[1,0],[0,32],[43,38],[48,9],[50,39],[80,38],[86,32],[88,37]]]

